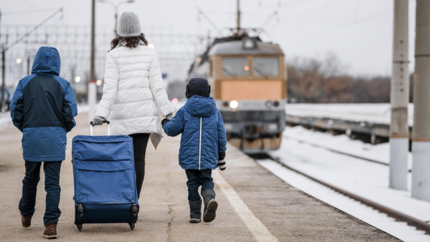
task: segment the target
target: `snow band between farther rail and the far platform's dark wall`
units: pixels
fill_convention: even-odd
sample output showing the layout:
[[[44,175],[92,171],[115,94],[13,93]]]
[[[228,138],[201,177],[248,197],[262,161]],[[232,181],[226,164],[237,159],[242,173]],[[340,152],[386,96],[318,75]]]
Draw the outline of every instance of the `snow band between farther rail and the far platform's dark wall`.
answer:
[[[390,163],[390,143],[372,145],[360,140],[352,140],[348,135],[332,135],[323,132],[314,132],[302,126],[287,127],[283,138],[313,144],[317,147],[351,154],[365,159],[371,159],[385,164]],[[408,156],[408,166],[412,169],[412,154]]]

